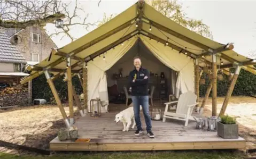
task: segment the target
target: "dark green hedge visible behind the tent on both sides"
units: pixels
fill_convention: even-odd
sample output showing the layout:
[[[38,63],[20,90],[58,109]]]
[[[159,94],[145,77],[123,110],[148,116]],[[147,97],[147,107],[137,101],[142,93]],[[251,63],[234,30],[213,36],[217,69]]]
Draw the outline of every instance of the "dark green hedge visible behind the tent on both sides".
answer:
[[[231,69],[231,72],[234,73],[235,69]],[[207,75],[203,73],[202,77],[205,78],[205,85],[200,85],[199,87],[199,96],[204,97],[207,86],[210,83],[210,80],[208,79]],[[64,77],[60,77],[54,81],[56,90],[58,91],[59,97],[61,99],[61,102],[67,102],[68,99],[68,92],[67,92],[67,82],[63,81]],[[230,81],[228,81],[228,76],[223,74],[223,81],[218,81],[217,83],[217,95],[219,97],[225,96],[229,87]],[[76,93],[81,94],[82,93],[82,87],[80,85],[80,81],[77,78],[77,76],[73,77],[72,83],[75,87]],[[32,84],[32,98],[43,98],[46,99],[46,101],[55,104],[55,99],[53,98],[51,89],[46,82],[46,78],[44,74],[41,76],[33,79]],[[232,96],[249,96],[249,95],[256,95],[256,76],[250,72],[247,72],[243,69],[241,69],[241,72],[238,76],[234,91],[232,93]],[[212,96],[210,94],[210,96]]]

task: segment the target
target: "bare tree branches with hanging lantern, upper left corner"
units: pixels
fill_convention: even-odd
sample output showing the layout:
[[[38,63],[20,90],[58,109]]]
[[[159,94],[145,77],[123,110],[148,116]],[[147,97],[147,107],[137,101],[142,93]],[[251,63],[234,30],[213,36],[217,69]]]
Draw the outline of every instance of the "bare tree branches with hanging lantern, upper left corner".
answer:
[[[72,28],[77,25],[88,30],[95,23],[87,22],[88,13],[82,5],[76,1],[5,1],[0,0],[0,27],[25,29],[30,26],[45,27],[47,23],[54,23],[57,19],[63,19],[64,25],[56,29],[54,35],[74,37],[70,34]]]

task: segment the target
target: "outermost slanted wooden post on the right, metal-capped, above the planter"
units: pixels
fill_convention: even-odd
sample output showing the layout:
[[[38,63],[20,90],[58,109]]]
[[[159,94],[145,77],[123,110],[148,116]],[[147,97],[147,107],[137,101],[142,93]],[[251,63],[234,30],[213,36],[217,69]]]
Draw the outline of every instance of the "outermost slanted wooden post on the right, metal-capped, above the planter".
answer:
[[[238,65],[238,66],[236,67],[236,72],[235,72],[235,74],[234,74],[234,76],[233,76],[233,78],[232,78],[232,81],[231,81],[231,83],[230,83],[230,85],[229,85],[228,92],[227,92],[227,95],[226,95],[226,97],[225,97],[225,99],[224,99],[224,102],[223,102],[223,104],[222,104],[222,107],[221,107],[221,111],[220,111],[219,116],[224,115],[224,113],[225,113],[225,111],[226,111],[226,108],[227,108],[227,106],[228,106],[229,98],[231,97],[231,94],[232,94],[232,92],[233,92],[233,90],[234,90],[234,87],[235,87],[235,85],[236,85],[236,80],[237,80],[237,78],[238,78],[238,75],[239,75],[240,70],[241,70],[241,66]]]

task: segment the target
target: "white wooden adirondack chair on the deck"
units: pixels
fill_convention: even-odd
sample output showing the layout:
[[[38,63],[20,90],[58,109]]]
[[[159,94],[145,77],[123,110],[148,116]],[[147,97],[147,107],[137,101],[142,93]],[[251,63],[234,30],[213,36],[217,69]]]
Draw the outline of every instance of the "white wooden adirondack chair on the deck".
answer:
[[[166,121],[166,118],[177,119],[185,121],[185,127],[187,127],[189,120],[196,120],[195,116],[192,116],[193,108],[198,104],[196,103],[197,95],[188,91],[184,94],[181,94],[179,101],[167,102],[165,103],[165,112],[162,122]],[[168,112],[168,107],[170,104],[177,103],[176,112]]]

